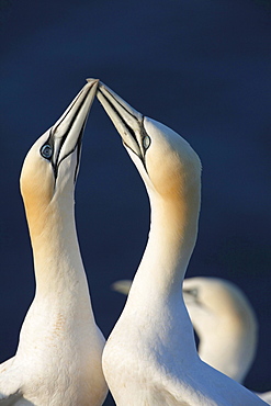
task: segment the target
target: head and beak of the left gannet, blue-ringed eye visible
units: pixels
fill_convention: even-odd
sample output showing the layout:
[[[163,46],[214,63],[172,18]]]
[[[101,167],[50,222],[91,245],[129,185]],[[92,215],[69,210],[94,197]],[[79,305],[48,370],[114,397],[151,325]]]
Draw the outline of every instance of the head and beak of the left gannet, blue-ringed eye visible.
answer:
[[[21,172],[21,193],[32,213],[44,210],[65,191],[72,195],[80,162],[81,140],[98,88],[89,80],[60,119],[27,153]]]

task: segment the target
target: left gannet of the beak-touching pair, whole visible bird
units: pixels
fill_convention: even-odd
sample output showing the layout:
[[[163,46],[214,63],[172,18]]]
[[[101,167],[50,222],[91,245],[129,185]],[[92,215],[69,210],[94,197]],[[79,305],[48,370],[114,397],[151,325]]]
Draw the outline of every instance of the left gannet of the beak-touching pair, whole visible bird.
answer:
[[[82,88],[23,163],[36,292],[16,353],[0,365],[0,405],[95,406],[108,393],[104,338],[92,313],[74,214],[82,134],[97,87],[90,80]]]

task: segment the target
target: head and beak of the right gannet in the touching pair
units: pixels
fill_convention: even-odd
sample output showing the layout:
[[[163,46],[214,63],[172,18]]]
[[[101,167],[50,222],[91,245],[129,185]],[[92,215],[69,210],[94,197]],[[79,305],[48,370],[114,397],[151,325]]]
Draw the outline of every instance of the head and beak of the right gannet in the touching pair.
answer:
[[[180,192],[200,183],[201,162],[185,139],[137,112],[104,84],[99,86],[97,95],[120,133],[149,194],[155,191],[162,199],[178,200]]]

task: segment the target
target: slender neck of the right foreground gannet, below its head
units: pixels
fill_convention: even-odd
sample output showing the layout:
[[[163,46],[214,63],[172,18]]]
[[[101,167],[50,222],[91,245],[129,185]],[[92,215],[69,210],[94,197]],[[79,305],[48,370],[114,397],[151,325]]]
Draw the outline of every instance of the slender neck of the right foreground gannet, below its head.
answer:
[[[165,199],[156,191],[148,190],[150,230],[137,274],[145,280],[142,283],[147,291],[154,289],[160,300],[174,291],[182,295],[182,281],[195,245],[200,183],[189,189],[180,191],[178,201]]]

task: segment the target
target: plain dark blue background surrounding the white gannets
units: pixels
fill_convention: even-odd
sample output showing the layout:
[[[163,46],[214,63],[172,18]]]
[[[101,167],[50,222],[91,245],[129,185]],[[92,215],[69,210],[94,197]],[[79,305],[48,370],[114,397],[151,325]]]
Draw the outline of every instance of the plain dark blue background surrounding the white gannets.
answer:
[[[246,385],[270,390],[271,2],[1,0],[0,24],[0,361],[14,353],[34,294],[22,161],[94,77],[181,133],[202,158],[188,277],[227,278],[249,296],[260,337]],[[93,309],[108,336],[125,302],[110,285],[133,277],[149,206],[99,102],[86,131],[76,208]]]

